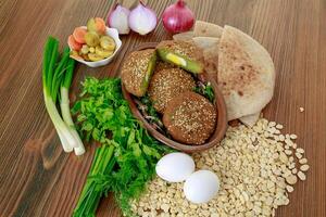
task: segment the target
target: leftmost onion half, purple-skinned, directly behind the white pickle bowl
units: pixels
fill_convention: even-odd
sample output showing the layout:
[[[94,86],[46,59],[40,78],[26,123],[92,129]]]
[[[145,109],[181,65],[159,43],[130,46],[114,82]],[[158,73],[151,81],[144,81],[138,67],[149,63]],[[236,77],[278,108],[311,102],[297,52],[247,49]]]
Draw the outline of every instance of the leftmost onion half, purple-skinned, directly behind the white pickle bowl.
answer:
[[[130,28],[128,25],[128,16],[130,11],[121,4],[116,4],[115,8],[110,12],[108,17],[109,27],[116,28],[118,34],[129,34]]]

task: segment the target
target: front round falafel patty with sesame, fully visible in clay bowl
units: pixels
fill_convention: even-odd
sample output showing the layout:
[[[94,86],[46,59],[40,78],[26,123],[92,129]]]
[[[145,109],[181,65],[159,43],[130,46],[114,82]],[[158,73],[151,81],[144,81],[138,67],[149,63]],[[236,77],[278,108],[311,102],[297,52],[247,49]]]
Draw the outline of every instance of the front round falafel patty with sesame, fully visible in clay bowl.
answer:
[[[167,103],[163,124],[176,141],[202,144],[214,132],[216,110],[204,97],[187,91]]]

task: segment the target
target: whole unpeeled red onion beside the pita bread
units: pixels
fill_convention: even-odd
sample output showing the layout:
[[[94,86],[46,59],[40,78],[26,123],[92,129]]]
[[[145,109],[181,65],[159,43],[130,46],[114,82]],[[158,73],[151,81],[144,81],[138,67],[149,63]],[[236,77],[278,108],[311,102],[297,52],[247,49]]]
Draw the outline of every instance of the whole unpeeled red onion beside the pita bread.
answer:
[[[184,0],[178,0],[165,9],[162,20],[167,31],[177,34],[187,31],[193,26],[195,15]]]

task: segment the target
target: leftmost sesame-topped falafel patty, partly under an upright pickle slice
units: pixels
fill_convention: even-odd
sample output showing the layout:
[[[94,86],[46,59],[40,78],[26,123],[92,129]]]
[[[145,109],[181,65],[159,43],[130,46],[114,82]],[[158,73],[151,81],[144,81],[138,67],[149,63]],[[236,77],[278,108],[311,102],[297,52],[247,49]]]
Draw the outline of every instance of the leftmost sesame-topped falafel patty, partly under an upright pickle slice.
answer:
[[[155,63],[156,52],[154,49],[131,52],[121,71],[121,78],[126,90],[137,97],[145,95]]]

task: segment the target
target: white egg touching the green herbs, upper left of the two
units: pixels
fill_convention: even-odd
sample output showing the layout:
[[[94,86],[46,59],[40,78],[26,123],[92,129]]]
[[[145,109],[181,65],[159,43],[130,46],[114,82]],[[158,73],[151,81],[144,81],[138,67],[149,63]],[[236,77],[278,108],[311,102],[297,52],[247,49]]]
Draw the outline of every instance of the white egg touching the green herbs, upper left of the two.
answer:
[[[188,154],[175,152],[163,156],[155,169],[158,176],[165,181],[180,182],[195,171],[195,162]]]

